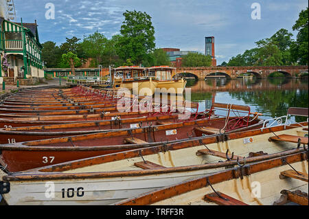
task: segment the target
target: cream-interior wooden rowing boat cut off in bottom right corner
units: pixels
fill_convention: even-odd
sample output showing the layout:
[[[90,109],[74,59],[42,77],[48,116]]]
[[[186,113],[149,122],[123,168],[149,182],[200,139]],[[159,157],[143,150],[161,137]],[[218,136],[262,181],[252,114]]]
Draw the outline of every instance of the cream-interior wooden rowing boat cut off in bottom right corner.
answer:
[[[294,170],[288,164],[293,165]],[[169,206],[291,204],[308,205],[308,153],[307,156],[293,154],[239,165],[232,170],[207,174],[115,203]]]

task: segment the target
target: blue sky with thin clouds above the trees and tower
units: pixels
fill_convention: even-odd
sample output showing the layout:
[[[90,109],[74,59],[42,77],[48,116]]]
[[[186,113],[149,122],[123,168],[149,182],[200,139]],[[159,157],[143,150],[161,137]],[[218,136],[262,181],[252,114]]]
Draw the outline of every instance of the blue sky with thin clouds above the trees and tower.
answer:
[[[205,37],[214,36],[217,65],[281,28],[296,37],[292,27],[308,7],[307,0],[14,0],[14,4],[17,22],[36,20],[41,43],[57,45],[95,31],[111,38],[119,34],[126,10],[146,12],[152,17],[157,48],[205,54]]]

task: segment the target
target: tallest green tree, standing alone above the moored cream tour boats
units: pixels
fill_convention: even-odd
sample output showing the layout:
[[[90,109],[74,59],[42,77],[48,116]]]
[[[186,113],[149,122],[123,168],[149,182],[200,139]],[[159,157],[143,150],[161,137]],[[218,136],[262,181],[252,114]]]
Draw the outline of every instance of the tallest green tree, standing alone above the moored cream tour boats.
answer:
[[[123,60],[130,58],[139,65],[155,49],[155,28],[146,12],[126,10],[123,15],[117,54]]]

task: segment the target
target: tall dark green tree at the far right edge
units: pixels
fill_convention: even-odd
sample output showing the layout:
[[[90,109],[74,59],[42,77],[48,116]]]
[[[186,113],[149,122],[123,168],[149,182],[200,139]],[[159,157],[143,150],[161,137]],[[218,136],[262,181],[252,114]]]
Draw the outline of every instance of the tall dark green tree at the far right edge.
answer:
[[[308,8],[301,10],[293,30],[298,31],[296,43],[291,48],[293,60],[299,65],[308,65]]]

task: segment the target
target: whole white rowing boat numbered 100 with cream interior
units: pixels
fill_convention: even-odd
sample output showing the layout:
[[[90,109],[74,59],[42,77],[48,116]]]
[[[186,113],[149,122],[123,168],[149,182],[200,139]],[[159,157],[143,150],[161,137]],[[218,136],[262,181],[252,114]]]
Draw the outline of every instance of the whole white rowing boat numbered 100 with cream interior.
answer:
[[[301,125],[305,124],[308,126],[307,122]],[[205,176],[214,184],[216,181],[210,176],[216,173],[227,174],[216,175],[222,181],[222,178],[244,177],[281,165],[286,170],[287,162],[297,163],[295,167],[299,171],[308,172],[308,146],[268,141],[275,135],[300,138],[304,134],[298,124],[284,127],[225,134],[220,138],[203,137],[24,172],[1,172],[1,194],[8,205],[110,205]],[[258,156],[250,156],[250,152]],[[46,156],[41,159],[49,162],[52,154]]]

